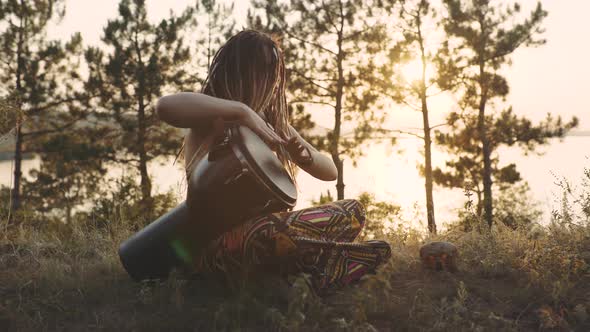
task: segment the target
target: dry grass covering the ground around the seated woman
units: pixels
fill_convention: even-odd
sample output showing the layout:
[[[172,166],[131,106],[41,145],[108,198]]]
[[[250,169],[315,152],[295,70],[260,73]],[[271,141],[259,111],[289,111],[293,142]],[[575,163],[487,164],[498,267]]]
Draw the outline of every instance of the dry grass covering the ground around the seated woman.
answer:
[[[456,274],[423,270],[423,239],[400,232],[379,274],[318,299],[302,278],[233,292],[177,275],[134,283],[117,256],[130,231],[20,226],[0,244],[0,330],[590,329],[587,226],[448,232],[436,240],[460,248]]]

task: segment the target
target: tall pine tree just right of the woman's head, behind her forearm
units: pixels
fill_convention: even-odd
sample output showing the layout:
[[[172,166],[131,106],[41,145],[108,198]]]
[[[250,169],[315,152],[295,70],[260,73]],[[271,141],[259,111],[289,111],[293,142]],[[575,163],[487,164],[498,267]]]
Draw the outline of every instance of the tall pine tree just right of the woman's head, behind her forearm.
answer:
[[[363,154],[363,141],[383,122],[384,113],[376,112],[379,94],[370,88],[377,70],[371,54],[378,52],[383,39],[383,29],[376,24],[377,2],[253,2],[265,12],[257,24],[283,38],[290,102],[334,112],[333,129],[315,143],[336,164],[337,199],[344,198],[343,156],[354,163]],[[350,134],[343,133],[346,124],[355,126]]]

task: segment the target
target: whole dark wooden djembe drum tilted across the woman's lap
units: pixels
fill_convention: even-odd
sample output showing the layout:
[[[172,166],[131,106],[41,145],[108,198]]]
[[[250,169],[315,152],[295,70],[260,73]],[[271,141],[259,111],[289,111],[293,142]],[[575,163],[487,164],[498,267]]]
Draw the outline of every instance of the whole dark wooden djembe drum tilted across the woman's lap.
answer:
[[[297,190],[275,153],[249,128],[233,125],[195,165],[186,201],[119,248],[135,280],[159,279],[194,264],[207,243],[264,213],[292,209]]]

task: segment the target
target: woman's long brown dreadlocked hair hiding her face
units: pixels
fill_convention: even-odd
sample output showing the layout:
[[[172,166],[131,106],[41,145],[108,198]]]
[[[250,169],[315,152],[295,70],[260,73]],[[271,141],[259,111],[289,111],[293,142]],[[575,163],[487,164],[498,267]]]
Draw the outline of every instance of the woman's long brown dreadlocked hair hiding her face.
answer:
[[[248,105],[287,139],[285,81],[284,55],[277,39],[260,31],[243,30],[215,53],[201,93]],[[288,153],[280,147],[277,156],[295,181],[295,166]]]

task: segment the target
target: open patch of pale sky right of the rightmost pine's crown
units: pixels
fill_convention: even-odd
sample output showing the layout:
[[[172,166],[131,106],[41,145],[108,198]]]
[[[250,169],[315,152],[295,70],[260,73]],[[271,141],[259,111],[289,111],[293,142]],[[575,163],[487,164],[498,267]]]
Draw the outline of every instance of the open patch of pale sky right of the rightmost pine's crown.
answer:
[[[590,129],[590,1],[546,0],[547,44],[518,50],[508,71],[509,100],[519,114],[576,115]]]

